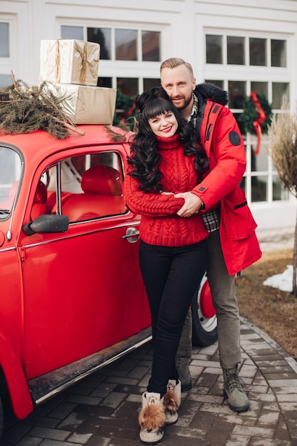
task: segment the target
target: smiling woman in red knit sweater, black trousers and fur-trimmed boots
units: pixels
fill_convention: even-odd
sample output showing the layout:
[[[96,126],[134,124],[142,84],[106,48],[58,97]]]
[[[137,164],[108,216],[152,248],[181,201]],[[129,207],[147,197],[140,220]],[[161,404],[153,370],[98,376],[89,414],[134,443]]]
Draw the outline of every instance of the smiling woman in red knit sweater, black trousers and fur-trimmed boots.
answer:
[[[190,193],[207,173],[207,155],[197,145],[192,125],[159,93],[152,89],[136,98],[140,120],[124,188],[128,207],[142,217],[140,270],[154,341],[152,374],[138,418],[140,440],[145,444],[160,442],[165,424],[177,422],[181,381],[175,357],[206,268],[209,235],[199,212],[179,217],[182,195]]]

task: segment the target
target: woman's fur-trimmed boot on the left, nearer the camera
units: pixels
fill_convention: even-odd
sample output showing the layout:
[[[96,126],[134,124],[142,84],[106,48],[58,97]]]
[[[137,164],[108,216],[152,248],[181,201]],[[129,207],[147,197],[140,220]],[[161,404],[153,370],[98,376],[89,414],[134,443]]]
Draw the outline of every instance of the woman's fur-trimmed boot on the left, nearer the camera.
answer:
[[[165,407],[160,393],[142,394],[142,410],[138,417],[140,440],[145,445],[157,445],[164,436]]]

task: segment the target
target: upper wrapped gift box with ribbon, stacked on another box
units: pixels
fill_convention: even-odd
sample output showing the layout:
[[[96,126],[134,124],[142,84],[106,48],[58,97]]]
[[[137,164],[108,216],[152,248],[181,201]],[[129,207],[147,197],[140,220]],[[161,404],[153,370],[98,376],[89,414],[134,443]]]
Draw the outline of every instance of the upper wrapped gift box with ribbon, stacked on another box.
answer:
[[[97,85],[99,43],[75,39],[42,40],[39,81]]]

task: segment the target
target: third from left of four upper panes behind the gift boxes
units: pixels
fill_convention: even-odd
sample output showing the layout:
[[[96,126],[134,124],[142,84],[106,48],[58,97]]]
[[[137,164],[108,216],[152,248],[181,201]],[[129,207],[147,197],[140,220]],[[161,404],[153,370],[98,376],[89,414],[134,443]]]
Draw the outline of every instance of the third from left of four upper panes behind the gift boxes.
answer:
[[[137,61],[137,31],[115,29],[115,58],[117,61]]]

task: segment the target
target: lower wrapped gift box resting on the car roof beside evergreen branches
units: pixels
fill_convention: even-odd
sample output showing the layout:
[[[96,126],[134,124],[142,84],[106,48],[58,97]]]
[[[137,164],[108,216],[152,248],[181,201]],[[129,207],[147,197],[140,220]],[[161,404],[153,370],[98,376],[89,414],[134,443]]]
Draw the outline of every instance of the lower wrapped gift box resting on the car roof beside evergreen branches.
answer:
[[[67,83],[46,83],[57,97],[63,97],[61,106],[67,117],[75,124],[113,123],[115,114],[115,88],[90,87]]]

